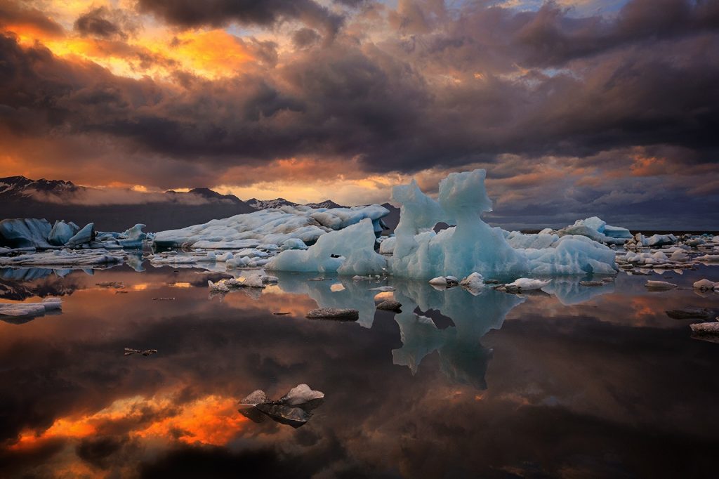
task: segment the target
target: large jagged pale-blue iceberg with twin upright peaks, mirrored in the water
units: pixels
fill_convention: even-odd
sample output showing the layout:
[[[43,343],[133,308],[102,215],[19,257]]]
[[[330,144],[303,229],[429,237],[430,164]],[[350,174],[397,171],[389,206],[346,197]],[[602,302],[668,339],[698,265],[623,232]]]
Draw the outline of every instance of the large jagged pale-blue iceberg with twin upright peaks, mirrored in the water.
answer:
[[[437,200],[426,196],[415,181],[395,186],[392,199],[401,208],[391,255],[375,252],[372,222],[365,220],[324,234],[308,250],[280,252],[267,268],[404,278],[616,272],[613,250],[582,235],[521,238],[513,233],[514,243],[543,246],[513,247],[508,232],[482,221],[482,213],[492,210],[485,175],[482,169],[450,174],[439,183]],[[454,226],[436,233],[433,228],[439,222]]]

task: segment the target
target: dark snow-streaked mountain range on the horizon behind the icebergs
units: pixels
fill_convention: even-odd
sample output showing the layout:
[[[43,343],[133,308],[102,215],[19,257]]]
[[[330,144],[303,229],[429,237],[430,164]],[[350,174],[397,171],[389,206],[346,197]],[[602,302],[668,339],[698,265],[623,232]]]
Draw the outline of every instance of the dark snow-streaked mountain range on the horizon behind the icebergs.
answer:
[[[210,188],[193,188],[187,192],[139,193],[132,190],[108,191],[78,186],[63,180],[31,180],[24,176],[0,178],[0,219],[45,218],[77,224],[94,222],[100,231],[123,231],[135,223],[147,224],[147,231],[162,231],[226,218],[235,214],[252,213],[280,206],[298,206],[283,198],[242,201],[234,195],[224,195]],[[325,200],[308,203],[312,208],[339,208],[342,205]],[[394,227],[398,211],[390,209],[388,225]]]

